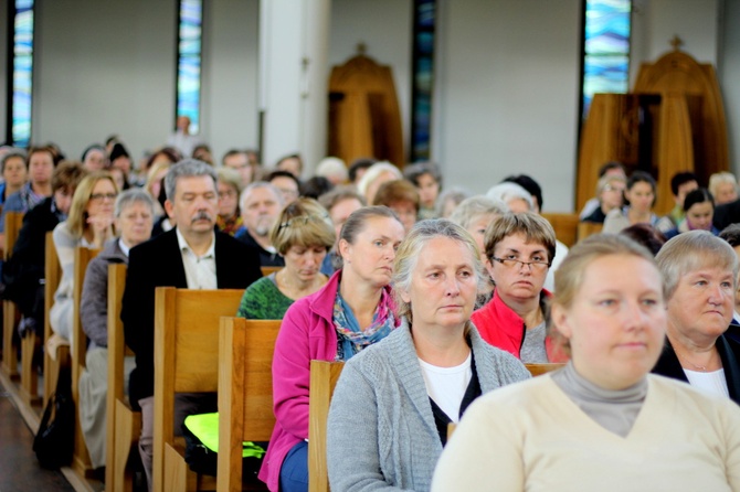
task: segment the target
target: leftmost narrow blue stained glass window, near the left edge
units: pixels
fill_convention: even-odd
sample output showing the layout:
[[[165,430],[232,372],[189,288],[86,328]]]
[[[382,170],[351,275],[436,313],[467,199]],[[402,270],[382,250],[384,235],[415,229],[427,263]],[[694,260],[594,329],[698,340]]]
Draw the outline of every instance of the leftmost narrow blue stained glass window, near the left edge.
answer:
[[[33,0],[15,0],[13,21],[12,137],[15,147],[31,142],[33,95]]]

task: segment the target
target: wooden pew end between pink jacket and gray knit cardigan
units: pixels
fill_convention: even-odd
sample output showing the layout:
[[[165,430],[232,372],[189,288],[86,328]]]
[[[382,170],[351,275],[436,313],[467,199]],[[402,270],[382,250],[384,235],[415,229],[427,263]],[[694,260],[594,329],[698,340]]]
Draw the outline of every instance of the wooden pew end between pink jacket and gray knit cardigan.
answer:
[[[339,381],[343,362],[310,362],[308,396],[308,492],[328,492],[329,473],[326,462],[326,425],[334,387]]]

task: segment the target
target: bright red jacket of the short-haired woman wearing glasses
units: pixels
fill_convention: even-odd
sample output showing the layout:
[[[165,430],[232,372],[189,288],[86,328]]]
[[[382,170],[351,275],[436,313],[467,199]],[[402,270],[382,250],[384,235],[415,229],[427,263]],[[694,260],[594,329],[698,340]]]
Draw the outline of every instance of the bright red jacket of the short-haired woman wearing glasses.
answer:
[[[542,296],[550,298],[552,295],[542,289]],[[473,312],[471,321],[478,329],[483,340],[521,359],[525,320],[504,303],[498,292],[494,291],[494,298],[486,306]],[[550,335],[545,339],[545,347],[548,361],[568,362],[568,355]]]

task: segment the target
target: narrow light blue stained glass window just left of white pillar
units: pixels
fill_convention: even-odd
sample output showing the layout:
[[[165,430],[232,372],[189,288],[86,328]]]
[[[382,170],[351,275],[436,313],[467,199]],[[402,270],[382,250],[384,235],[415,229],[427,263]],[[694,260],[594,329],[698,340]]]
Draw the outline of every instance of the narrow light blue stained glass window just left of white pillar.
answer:
[[[177,116],[190,118],[190,132],[200,130],[200,67],[202,0],[180,0]]]

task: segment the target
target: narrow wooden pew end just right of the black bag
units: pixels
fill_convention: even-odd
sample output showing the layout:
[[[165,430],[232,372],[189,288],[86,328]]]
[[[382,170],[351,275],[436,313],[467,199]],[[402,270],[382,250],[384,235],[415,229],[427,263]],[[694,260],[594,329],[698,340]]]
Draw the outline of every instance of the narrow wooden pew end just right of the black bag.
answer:
[[[87,335],[82,329],[80,319],[80,306],[82,304],[82,288],[85,284],[87,265],[95,258],[101,249],[89,249],[77,246],[74,250],[74,287],[72,297],[74,309],[72,314],[72,400],[75,407],[74,453],[72,456],[72,469],[81,477],[86,477],[93,471],[87,453],[85,438],[80,426],[80,375],[85,368],[87,356]]]

